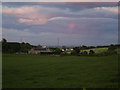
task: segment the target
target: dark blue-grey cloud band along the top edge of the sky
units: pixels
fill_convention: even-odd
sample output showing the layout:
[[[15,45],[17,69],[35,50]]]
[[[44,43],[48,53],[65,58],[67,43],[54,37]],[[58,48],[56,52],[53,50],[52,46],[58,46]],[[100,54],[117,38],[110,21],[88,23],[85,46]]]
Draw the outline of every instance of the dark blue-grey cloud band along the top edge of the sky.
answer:
[[[3,6],[21,7],[21,6],[41,6],[50,8],[67,9],[71,11],[79,11],[95,7],[114,7],[118,6],[118,2],[3,2]]]

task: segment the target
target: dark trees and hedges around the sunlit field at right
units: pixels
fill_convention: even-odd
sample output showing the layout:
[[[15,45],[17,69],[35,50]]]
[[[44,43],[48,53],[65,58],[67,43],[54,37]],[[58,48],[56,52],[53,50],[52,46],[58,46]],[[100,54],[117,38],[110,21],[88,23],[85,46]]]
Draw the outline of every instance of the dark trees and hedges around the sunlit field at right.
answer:
[[[94,48],[108,48],[104,52],[96,53],[94,51]],[[109,46],[80,46],[80,47],[73,47],[73,51],[71,51],[71,54],[68,54],[67,52],[62,52],[62,55],[76,55],[76,56],[108,56],[108,55],[116,55],[118,54],[118,49],[120,48],[120,45],[109,45]],[[89,51],[86,51],[88,50]]]

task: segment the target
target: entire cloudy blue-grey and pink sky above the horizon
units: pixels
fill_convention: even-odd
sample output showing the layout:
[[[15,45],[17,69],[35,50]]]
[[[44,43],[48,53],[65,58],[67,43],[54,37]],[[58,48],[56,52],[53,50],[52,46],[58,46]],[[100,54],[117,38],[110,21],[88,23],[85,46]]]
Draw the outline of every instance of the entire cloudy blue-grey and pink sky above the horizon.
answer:
[[[77,1],[77,0],[76,0]],[[2,36],[34,45],[117,43],[117,2],[3,2]]]

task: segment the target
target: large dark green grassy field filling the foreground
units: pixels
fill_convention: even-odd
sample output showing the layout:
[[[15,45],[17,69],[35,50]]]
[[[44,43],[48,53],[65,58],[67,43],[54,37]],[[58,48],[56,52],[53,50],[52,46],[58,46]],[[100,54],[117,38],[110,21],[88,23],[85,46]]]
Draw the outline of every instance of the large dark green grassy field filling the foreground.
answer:
[[[115,88],[117,56],[3,55],[3,88]]]

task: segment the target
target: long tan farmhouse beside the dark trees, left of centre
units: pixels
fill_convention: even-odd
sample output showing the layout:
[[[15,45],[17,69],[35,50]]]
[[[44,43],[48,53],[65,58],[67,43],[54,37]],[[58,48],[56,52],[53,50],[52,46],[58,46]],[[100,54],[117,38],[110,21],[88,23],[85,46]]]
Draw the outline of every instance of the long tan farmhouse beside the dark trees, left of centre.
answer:
[[[42,54],[42,53],[50,53],[52,52],[49,48],[47,47],[41,47],[41,48],[32,48],[28,53],[29,54]]]

